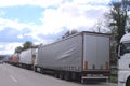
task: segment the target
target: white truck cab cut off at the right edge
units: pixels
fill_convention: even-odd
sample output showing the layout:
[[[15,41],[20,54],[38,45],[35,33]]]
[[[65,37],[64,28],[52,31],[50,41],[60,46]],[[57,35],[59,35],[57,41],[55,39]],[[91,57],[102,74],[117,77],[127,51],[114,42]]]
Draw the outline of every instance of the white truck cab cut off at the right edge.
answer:
[[[118,86],[130,86],[130,33],[118,45]]]

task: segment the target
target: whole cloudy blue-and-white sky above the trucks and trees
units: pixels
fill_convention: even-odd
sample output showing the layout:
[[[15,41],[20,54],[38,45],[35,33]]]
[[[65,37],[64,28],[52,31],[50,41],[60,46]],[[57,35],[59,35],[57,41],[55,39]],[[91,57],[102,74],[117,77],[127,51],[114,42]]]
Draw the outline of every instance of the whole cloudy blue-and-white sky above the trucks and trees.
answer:
[[[48,44],[66,31],[96,31],[110,0],[0,0],[0,55],[26,41]]]

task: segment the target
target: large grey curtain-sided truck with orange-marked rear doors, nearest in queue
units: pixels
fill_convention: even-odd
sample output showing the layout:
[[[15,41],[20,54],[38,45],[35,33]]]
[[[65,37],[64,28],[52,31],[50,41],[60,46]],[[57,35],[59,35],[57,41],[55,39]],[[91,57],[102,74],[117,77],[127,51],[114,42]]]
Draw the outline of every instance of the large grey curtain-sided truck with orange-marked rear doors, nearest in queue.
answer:
[[[106,82],[109,77],[109,34],[82,31],[40,45],[35,71],[62,80]]]

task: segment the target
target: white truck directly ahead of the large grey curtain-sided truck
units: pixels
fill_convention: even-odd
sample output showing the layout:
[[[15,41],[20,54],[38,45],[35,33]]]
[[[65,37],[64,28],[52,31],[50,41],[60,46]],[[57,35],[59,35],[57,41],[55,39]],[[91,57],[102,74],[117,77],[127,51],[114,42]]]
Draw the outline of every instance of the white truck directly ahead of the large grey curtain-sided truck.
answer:
[[[20,54],[18,64],[25,69],[32,69],[35,63],[35,51],[36,48],[28,48]]]

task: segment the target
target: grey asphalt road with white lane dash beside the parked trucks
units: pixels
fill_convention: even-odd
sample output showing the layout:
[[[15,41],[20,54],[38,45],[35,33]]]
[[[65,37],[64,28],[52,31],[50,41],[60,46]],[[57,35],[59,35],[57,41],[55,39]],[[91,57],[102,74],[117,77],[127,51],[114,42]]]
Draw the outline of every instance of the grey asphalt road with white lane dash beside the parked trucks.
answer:
[[[79,84],[36,73],[10,64],[0,64],[0,86],[117,86],[110,83]]]

